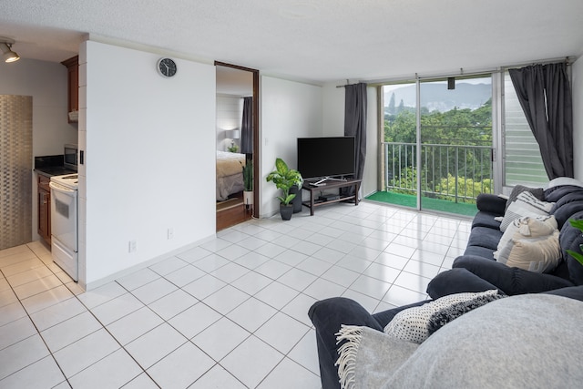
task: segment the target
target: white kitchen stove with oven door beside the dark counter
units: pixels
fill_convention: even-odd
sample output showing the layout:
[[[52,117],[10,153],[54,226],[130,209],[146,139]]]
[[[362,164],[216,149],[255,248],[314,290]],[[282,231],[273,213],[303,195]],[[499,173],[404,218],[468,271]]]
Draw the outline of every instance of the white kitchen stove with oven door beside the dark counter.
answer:
[[[51,177],[51,253],[53,261],[78,280],[78,175]]]

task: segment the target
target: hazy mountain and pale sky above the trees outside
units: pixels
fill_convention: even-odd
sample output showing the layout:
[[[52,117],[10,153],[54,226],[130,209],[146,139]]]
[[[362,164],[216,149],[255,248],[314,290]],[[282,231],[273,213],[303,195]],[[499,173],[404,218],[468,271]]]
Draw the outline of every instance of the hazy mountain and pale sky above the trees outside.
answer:
[[[408,85],[384,92],[384,111],[388,111],[391,96],[394,94],[394,106],[399,107],[403,100],[404,107],[415,107],[416,87]],[[421,107],[429,111],[445,112],[454,107],[476,109],[492,97],[490,84],[469,84],[463,81],[455,83],[455,89],[447,89],[446,83],[421,84]]]

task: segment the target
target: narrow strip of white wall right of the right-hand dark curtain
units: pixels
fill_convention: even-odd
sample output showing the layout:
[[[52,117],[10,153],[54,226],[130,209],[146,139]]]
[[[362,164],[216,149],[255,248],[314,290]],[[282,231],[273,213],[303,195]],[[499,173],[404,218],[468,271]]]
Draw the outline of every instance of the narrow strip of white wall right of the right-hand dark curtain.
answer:
[[[573,77],[573,165],[575,178],[583,180],[583,59],[571,68]]]

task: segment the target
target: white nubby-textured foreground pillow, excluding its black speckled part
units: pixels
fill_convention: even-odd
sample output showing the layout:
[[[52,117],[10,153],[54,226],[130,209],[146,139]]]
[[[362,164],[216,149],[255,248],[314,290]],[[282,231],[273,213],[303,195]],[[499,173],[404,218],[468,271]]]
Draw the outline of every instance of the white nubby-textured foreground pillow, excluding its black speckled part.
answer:
[[[430,334],[429,321],[436,312],[460,302],[472,301],[479,296],[496,294],[498,294],[496,289],[486,292],[455,293],[418,307],[408,308],[394,315],[393,320],[384,327],[384,333],[407,342],[423,343]]]

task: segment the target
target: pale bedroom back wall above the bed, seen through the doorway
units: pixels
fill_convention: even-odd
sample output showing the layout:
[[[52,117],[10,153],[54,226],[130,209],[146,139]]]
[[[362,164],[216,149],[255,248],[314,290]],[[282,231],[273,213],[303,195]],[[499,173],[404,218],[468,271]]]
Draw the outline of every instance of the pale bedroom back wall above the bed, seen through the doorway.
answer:
[[[217,149],[227,151],[231,139],[227,130],[238,128],[243,116],[243,99],[241,97],[217,96]],[[240,147],[240,139],[232,139]]]

